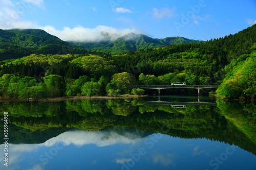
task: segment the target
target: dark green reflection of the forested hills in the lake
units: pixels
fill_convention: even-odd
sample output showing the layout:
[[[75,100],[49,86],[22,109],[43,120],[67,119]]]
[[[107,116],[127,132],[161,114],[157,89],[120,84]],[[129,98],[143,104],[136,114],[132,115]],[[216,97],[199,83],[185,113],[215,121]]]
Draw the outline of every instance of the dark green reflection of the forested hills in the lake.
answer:
[[[256,155],[254,105],[220,102],[218,107],[172,108],[170,105],[144,105],[141,99],[103,103],[102,106],[102,101],[97,100],[16,102],[0,103],[0,107],[9,112],[12,143],[41,143],[69,129],[110,129],[129,139],[142,138],[152,134],[150,132],[181,138],[208,138],[238,145]]]

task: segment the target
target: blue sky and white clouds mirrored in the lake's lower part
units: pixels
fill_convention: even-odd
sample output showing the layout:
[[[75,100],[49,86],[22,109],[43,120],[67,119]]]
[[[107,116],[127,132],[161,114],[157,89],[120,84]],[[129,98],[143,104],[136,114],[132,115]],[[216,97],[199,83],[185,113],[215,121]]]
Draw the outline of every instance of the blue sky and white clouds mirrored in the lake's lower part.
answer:
[[[256,165],[253,154],[235,145],[140,134],[71,130],[44,143],[10,144],[8,169],[252,169]]]

